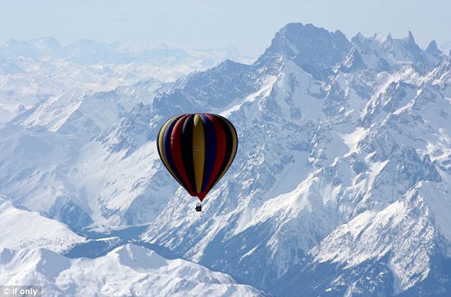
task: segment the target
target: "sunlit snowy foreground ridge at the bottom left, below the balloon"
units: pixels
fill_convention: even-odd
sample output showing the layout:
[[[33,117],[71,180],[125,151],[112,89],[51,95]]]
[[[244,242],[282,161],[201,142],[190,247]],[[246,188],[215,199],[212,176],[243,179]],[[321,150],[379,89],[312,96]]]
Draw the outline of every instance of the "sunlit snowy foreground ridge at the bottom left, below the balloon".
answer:
[[[0,281],[42,288],[43,296],[262,296],[230,276],[125,244],[97,259],[48,249],[0,249]]]

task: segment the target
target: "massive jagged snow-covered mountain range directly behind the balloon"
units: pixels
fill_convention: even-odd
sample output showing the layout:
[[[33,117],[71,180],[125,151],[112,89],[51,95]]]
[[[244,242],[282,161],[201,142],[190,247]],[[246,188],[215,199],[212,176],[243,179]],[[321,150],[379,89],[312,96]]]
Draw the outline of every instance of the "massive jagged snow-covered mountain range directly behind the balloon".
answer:
[[[0,193],[87,238],[64,252],[95,259],[65,259],[69,271],[141,251],[123,245],[134,242],[274,296],[449,296],[450,85],[451,54],[434,41],[290,23],[250,65],[80,87],[23,109],[0,130]],[[201,213],[155,144],[167,118],[190,112],[222,114],[239,138]],[[85,286],[60,281],[45,284]]]

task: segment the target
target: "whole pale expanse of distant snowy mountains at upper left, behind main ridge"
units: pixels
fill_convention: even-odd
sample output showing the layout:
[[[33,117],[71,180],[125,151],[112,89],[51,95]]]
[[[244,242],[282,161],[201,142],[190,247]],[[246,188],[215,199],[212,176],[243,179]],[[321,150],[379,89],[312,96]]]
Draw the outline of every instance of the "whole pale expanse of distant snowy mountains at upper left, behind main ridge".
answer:
[[[146,80],[172,82],[225,58],[244,59],[234,48],[133,49],[87,40],[62,46],[54,38],[13,39],[0,45],[0,125],[51,97],[106,92]]]

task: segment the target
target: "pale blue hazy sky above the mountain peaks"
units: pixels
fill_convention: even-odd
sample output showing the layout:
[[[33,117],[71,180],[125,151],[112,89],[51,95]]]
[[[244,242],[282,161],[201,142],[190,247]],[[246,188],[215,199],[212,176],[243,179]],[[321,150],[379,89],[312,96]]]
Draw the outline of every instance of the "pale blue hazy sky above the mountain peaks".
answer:
[[[286,23],[339,29],[349,39],[361,32],[413,32],[425,48],[435,39],[451,47],[450,0],[0,0],[0,43],[53,36],[132,45],[167,43],[186,48],[233,45],[260,55]]]

